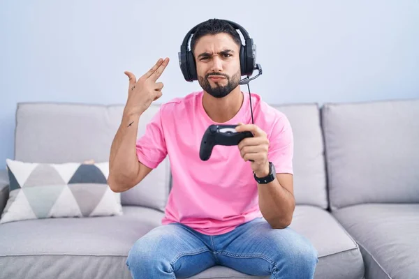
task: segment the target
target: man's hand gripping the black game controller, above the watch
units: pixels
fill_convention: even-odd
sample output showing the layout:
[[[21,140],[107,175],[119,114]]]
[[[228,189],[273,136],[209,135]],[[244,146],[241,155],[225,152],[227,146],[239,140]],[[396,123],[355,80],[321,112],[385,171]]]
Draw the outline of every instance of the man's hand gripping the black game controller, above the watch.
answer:
[[[236,130],[237,132],[249,131],[253,134],[253,137],[247,137],[238,144],[240,155],[244,161],[253,161],[251,169],[256,176],[267,176],[269,174],[269,161],[267,160],[269,140],[267,140],[266,133],[254,124],[239,123]]]

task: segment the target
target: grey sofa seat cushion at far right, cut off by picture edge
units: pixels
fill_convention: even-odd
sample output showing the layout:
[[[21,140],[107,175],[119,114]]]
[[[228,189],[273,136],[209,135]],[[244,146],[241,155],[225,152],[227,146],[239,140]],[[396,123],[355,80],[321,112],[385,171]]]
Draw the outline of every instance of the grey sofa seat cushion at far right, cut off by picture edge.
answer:
[[[419,204],[362,204],[334,214],[359,243],[365,278],[419,278]]]

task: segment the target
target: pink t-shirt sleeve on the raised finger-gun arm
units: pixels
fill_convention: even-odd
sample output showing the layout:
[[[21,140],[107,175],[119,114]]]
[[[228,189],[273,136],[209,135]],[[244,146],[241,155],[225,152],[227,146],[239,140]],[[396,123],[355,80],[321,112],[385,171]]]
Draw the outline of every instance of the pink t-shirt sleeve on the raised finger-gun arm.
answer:
[[[136,141],[138,160],[151,169],[155,169],[167,156],[162,119],[162,107],[160,107],[147,123],[145,133]]]

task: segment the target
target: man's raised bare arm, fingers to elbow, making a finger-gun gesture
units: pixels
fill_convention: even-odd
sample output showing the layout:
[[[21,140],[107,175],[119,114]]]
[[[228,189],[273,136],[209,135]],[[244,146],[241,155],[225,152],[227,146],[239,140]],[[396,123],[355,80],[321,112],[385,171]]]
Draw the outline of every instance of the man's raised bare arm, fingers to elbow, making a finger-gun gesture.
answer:
[[[125,72],[129,78],[128,100],[121,125],[112,141],[109,157],[108,185],[114,192],[124,192],[132,188],[152,171],[152,168],[138,160],[137,149],[143,147],[137,146],[138,121],[152,102],[162,96],[163,83],[156,80],[161,76],[168,62],[168,58],[159,59],[138,81],[133,73]],[[152,131],[149,131],[150,133]],[[153,144],[149,137],[152,135],[143,137],[142,142]]]

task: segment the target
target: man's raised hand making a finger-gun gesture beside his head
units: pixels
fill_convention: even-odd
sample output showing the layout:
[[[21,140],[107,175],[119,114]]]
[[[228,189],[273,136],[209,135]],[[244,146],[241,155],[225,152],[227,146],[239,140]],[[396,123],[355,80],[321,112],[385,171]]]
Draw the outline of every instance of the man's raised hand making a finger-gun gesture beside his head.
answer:
[[[162,82],[156,82],[163,70],[168,66],[169,58],[159,59],[154,66],[142,77],[136,80],[131,72],[124,72],[129,77],[128,100],[126,101],[125,112],[127,114],[141,115],[154,100],[161,97]]]

